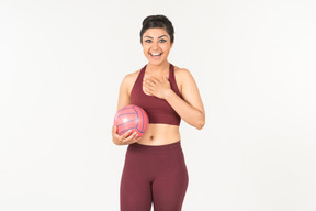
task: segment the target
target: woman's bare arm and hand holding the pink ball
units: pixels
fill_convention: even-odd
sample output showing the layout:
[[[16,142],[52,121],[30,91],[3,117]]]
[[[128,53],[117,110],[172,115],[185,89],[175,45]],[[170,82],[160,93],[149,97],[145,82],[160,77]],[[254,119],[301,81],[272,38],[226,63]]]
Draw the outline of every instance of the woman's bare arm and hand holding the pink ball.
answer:
[[[119,102],[117,102],[117,110],[128,106],[131,103],[131,96],[129,96],[129,88],[133,86],[133,77],[132,75],[127,75],[124,77],[119,93]],[[134,132],[131,134],[131,131],[125,132],[122,135],[117,134],[116,126],[112,126],[112,141],[116,145],[127,145],[138,142],[140,137],[138,137],[137,133]]]

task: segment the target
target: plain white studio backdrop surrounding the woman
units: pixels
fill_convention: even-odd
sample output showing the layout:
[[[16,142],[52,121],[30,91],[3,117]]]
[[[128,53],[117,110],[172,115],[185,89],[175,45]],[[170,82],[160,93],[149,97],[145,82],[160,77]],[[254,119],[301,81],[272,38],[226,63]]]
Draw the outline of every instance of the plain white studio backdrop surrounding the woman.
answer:
[[[0,0],[0,210],[117,211],[119,87],[146,64],[144,18],[206,110],[182,121],[183,211],[316,210],[314,0]]]

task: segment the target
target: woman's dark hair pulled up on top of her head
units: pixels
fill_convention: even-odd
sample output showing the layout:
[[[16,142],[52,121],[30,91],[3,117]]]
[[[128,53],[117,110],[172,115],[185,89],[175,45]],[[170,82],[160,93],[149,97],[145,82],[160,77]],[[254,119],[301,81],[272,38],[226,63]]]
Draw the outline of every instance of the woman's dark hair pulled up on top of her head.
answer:
[[[140,30],[140,43],[143,43],[143,34],[148,30],[148,29],[153,29],[153,27],[160,27],[160,29],[165,29],[167,31],[167,33],[170,36],[170,42],[173,43],[174,40],[174,29],[173,25],[171,23],[171,21],[169,21],[169,19],[165,15],[149,15],[146,19],[144,19],[143,21],[143,27]]]

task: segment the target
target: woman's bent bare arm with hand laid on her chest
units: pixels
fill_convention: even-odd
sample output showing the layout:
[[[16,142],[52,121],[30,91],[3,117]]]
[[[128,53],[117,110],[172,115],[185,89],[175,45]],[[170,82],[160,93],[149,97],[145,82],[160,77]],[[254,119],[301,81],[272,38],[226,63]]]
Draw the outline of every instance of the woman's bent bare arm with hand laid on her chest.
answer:
[[[177,75],[181,84],[181,99],[171,88],[167,78],[163,81],[157,78],[148,78],[144,85],[153,96],[167,100],[173,110],[184,120],[188,124],[201,130],[205,124],[205,111],[200,96],[198,85],[187,69],[179,69]]]

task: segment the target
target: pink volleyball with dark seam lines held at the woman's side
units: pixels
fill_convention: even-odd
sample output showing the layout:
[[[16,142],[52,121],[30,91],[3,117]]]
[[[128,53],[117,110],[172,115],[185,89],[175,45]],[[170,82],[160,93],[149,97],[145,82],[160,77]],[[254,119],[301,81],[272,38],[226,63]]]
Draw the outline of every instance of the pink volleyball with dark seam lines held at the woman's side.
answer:
[[[149,120],[147,113],[137,106],[129,104],[120,109],[114,116],[114,125],[117,126],[117,134],[132,130],[142,137],[148,129]]]

